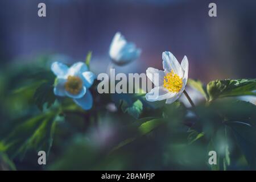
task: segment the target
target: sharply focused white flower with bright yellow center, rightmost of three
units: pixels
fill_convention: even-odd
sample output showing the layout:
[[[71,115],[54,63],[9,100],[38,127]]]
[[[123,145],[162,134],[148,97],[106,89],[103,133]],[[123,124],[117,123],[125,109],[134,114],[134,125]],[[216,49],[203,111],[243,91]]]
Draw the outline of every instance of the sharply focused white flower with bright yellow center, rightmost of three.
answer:
[[[164,71],[148,68],[147,77],[155,87],[146,94],[147,101],[166,100],[166,104],[175,102],[183,93],[188,81],[188,59],[184,56],[181,64],[171,52],[163,52]]]

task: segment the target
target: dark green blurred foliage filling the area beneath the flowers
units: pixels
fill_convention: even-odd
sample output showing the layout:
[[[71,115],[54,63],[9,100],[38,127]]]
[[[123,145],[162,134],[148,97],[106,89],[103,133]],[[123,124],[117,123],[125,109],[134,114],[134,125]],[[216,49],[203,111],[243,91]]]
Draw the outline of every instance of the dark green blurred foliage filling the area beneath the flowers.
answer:
[[[98,94],[95,81],[93,107],[85,111],[53,94],[51,62],[52,56],[40,56],[2,68],[3,169],[256,169],[256,106],[237,100],[255,96],[255,79],[207,85],[189,79],[205,97],[192,108],[147,102],[144,93]],[[47,152],[47,167],[37,163],[40,150]],[[218,154],[217,165],[208,164],[210,150]]]

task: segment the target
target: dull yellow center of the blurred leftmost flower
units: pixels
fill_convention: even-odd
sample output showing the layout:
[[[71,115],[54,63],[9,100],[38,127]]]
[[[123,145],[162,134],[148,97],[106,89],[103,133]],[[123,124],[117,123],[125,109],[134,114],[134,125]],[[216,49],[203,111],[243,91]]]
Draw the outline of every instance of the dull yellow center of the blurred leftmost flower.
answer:
[[[82,90],[82,80],[78,76],[68,76],[67,82],[65,82],[65,90],[67,92],[76,95]]]

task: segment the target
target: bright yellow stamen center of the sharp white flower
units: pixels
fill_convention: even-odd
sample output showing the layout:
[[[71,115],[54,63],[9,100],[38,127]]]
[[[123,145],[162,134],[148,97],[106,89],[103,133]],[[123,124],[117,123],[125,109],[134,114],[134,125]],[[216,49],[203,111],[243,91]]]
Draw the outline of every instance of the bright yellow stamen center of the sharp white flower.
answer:
[[[164,88],[169,90],[170,92],[179,92],[182,88],[182,78],[180,78],[174,71],[171,73],[167,73],[164,76]]]

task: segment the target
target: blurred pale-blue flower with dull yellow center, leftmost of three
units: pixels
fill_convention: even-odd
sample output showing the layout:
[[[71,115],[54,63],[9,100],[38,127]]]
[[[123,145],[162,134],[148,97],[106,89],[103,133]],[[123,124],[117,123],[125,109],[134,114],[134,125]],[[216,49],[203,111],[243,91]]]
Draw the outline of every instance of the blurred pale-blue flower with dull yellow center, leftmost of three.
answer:
[[[68,68],[63,63],[54,62],[51,70],[57,76],[54,87],[56,96],[73,98],[73,101],[85,110],[92,107],[93,98],[89,88],[96,76],[88,71],[85,63],[78,62]]]

